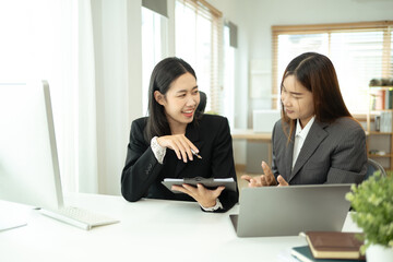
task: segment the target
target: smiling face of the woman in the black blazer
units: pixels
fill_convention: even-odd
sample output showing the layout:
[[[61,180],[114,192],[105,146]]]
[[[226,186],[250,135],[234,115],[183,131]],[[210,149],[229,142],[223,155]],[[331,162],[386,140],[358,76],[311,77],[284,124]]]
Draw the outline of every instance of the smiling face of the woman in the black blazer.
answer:
[[[164,106],[171,133],[184,133],[200,103],[195,78],[190,73],[184,73],[170,84],[165,96],[156,91],[154,97],[159,105]]]

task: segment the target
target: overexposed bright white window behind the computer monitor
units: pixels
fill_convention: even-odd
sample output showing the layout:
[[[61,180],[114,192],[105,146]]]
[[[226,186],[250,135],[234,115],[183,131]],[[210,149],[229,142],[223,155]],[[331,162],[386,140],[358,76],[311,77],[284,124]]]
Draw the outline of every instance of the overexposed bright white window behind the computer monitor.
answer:
[[[78,140],[74,132],[78,120],[73,110],[78,102],[74,97],[78,83],[78,15],[74,10],[78,10],[76,1],[0,3],[0,72],[1,78],[5,78],[0,81],[48,81],[66,191],[78,189]]]

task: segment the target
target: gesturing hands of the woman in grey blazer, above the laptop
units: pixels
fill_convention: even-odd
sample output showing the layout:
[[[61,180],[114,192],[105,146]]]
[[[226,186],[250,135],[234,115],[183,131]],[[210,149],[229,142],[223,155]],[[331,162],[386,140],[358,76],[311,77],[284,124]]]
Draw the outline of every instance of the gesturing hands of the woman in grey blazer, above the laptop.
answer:
[[[277,180],[275,179],[272,169],[267,166],[265,162],[261,164],[264,175],[260,177],[251,177],[248,175],[241,176],[241,179],[245,179],[249,182],[249,188],[257,188],[257,187],[269,187],[269,186],[289,186],[287,181],[279,175]]]

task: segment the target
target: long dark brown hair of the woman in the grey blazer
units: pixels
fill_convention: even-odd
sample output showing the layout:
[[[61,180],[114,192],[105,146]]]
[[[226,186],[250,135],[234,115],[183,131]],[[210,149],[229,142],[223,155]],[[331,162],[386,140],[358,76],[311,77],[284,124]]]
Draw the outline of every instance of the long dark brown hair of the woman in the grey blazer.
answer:
[[[333,122],[341,117],[352,115],[345,106],[340,91],[338,80],[332,61],[317,52],[305,52],[289,62],[285,69],[284,80],[294,75],[308,91],[312,93],[315,119],[320,122]],[[295,120],[288,118],[282,104],[282,118],[290,126],[288,138],[295,129]]]

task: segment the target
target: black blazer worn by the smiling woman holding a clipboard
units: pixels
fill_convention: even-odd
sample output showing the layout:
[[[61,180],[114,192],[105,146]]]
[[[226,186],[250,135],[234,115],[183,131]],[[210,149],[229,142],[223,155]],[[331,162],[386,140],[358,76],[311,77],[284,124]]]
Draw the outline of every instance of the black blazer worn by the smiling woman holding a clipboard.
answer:
[[[121,175],[121,193],[128,201],[141,198],[194,201],[183,193],[172,193],[162,184],[164,178],[228,178],[236,181],[231,135],[228,120],[221,116],[202,115],[196,123],[187,126],[186,136],[199,148],[202,159],[183,163],[167,148],[160,165],[145,141],[147,118],[132,122],[126,166]],[[219,201],[225,212],[238,202],[238,192],[224,190]]]

